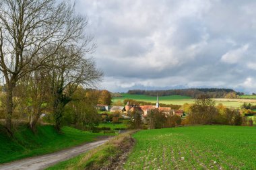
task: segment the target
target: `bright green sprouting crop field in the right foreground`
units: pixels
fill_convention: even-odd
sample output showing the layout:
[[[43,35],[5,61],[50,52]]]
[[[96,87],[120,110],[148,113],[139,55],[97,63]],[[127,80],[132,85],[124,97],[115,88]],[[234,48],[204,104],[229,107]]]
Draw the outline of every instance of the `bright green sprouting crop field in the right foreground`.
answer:
[[[125,169],[256,169],[256,128],[189,126],[141,130]]]

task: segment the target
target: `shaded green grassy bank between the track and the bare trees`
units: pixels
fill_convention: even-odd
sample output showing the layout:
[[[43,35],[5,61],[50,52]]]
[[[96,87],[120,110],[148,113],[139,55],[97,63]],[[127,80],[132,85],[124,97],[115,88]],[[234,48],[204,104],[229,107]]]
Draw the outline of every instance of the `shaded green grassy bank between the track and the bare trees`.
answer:
[[[53,153],[63,148],[90,142],[102,134],[84,132],[75,128],[63,127],[62,134],[53,126],[38,126],[37,134],[33,134],[27,126],[22,126],[10,138],[5,133],[0,135],[0,163]]]

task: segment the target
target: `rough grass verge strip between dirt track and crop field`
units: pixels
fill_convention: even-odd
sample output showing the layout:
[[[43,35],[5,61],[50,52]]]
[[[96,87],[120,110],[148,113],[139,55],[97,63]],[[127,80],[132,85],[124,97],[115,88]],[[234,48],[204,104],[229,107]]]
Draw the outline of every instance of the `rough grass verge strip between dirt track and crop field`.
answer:
[[[120,167],[126,159],[127,153],[133,146],[133,138],[131,134],[133,132],[126,132],[119,134],[115,138],[106,142],[102,146],[94,148],[88,153],[84,153],[68,161],[63,161],[53,167],[49,167],[47,170],[57,169],[114,169]],[[124,156],[125,155],[125,156]],[[117,168],[120,169],[120,168]]]

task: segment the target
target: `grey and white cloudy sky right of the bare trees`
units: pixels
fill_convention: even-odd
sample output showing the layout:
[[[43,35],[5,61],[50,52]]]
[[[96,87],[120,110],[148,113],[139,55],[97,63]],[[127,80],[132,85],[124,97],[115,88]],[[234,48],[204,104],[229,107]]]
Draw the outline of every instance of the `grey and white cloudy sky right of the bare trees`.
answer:
[[[256,92],[256,1],[77,0],[100,87],[227,87]]]

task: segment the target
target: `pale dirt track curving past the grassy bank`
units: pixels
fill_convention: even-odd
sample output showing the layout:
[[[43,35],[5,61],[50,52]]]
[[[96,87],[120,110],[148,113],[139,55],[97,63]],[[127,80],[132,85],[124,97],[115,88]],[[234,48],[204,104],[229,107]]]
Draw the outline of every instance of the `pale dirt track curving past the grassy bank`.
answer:
[[[99,140],[96,142],[90,142],[87,144],[83,144],[81,146],[75,146],[73,148],[68,148],[63,151],[59,151],[56,153],[50,153],[47,155],[31,157],[27,159],[22,159],[19,161],[13,161],[11,163],[5,163],[0,165],[1,170],[35,170],[35,169],[45,169],[51,165],[55,165],[61,161],[65,161],[70,159],[71,157],[75,157],[79,154],[82,154],[86,151],[91,150],[92,148],[96,148],[101,144],[107,142],[108,139]]]

